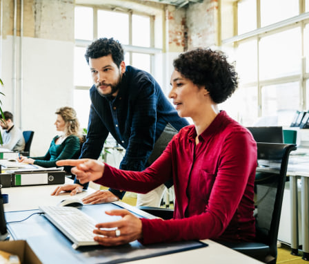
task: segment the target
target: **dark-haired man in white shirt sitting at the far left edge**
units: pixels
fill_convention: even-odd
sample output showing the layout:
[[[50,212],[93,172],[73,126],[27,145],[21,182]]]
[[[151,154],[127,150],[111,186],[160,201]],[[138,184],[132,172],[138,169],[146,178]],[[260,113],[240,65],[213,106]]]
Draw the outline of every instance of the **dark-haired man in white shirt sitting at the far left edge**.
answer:
[[[21,130],[14,125],[13,114],[9,111],[3,112],[6,120],[1,118],[0,126],[3,129],[2,140],[0,145],[3,149],[10,149],[11,151],[23,151],[25,149],[25,139]]]

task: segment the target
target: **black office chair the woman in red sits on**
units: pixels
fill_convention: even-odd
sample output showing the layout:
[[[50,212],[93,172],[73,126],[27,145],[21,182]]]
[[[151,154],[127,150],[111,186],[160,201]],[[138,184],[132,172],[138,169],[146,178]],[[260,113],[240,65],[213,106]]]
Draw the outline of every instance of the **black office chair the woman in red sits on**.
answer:
[[[263,263],[274,264],[277,261],[277,237],[281,216],[281,207],[286,171],[290,151],[296,150],[295,144],[257,143],[258,163],[263,164],[263,173],[270,173],[268,180],[255,181],[256,199],[256,241],[242,243],[222,243],[238,252],[256,258]],[[268,167],[266,167],[268,166]],[[274,168],[277,173],[267,171]],[[139,207],[149,214],[169,219],[172,209]]]

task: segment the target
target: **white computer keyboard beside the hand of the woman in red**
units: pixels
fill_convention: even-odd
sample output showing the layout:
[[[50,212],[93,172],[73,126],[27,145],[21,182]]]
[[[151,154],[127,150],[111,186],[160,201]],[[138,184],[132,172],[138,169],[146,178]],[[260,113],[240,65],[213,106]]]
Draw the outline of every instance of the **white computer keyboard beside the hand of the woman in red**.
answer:
[[[74,249],[83,245],[99,245],[97,241],[93,240],[93,237],[96,236],[93,234],[93,230],[97,223],[83,211],[76,207],[59,206],[39,206],[39,209],[73,242]]]

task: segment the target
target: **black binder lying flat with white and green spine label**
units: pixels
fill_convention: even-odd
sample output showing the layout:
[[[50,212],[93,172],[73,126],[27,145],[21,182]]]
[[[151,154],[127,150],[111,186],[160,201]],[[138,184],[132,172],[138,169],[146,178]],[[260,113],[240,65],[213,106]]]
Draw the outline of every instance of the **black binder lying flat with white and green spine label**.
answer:
[[[13,172],[11,174],[12,187],[30,185],[62,185],[65,182],[65,171],[32,171]]]

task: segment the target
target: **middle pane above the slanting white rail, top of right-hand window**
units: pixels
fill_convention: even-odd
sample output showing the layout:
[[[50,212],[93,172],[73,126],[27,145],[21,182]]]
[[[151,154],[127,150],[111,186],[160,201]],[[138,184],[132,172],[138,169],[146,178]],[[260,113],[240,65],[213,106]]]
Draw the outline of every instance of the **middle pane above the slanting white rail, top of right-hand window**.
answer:
[[[261,0],[261,27],[299,15],[299,0]]]

